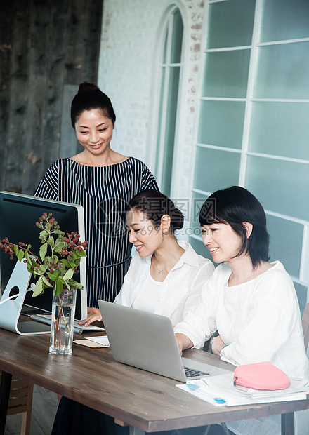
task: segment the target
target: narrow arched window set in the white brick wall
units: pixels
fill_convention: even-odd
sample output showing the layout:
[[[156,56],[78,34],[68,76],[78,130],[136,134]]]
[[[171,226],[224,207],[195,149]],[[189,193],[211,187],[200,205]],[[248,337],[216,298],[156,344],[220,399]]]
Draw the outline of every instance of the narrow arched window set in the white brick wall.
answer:
[[[162,44],[155,174],[162,192],[169,196],[183,67],[183,18],[177,6],[173,6],[166,17]]]

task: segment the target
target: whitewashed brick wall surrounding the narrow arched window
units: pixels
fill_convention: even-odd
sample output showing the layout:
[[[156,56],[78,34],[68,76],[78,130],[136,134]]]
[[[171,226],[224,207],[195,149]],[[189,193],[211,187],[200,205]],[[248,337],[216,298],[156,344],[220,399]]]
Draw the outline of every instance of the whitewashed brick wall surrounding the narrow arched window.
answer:
[[[169,7],[176,4],[185,25],[181,122],[173,171],[173,198],[190,197],[194,166],[196,91],[202,39],[204,2],[199,0],[104,0],[98,85],[109,95],[117,121],[112,147],[136,156],[155,169],[153,98],[157,44]],[[176,179],[175,179],[176,178]]]

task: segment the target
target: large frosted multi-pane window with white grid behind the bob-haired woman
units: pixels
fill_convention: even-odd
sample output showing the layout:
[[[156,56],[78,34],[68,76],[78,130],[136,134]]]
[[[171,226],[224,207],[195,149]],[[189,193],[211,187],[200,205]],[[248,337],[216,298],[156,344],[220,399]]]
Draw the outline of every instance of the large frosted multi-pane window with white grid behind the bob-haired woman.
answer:
[[[271,260],[309,281],[309,2],[210,0],[193,202],[242,185],[268,217]],[[191,223],[198,227],[192,208]],[[190,242],[203,255],[197,232]]]

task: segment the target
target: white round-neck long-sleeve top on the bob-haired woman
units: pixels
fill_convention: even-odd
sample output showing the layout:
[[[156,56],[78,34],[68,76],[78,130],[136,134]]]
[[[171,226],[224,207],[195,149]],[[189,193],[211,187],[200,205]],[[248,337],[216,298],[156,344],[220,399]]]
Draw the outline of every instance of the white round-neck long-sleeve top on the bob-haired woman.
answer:
[[[201,347],[218,330],[228,344],[221,351],[224,361],[235,366],[270,361],[289,377],[308,379],[294,284],[279,261],[272,265],[255,279],[231,287],[230,267],[226,263],[219,265],[205,283],[197,305],[176,325],[175,333],[187,335],[195,347]],[[280,419],[243,420],[228,427],[235,434],[274,435],[280,433]],[[298,434],[309,434],[309,426],[298,429]]]

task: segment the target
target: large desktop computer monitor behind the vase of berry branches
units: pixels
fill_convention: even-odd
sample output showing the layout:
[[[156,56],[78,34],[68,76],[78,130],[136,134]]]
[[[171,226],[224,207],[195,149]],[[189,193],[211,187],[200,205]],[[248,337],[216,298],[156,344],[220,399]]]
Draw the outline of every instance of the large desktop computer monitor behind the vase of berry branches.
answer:
[[[40,229],[35,225],[43,213],[53,213],[58,221],[60,229],[67,232],[77,232],[81,241],[85,241],[84,209],[77,204],[36,198],[34,196],[15,194],[13,192],[0,192],[0,239],[8,237],[12,243],[22,241],[31,244],[32,252],[39,254],[41,241],[39,240]],[[10,260],[10,256],[0,249],[0,281],[1,294],[4,293],[6,284],[10,279],[17,259]],[[84,287],[77,291],[77,304],[75,319],[81,320],[87,317],[87,293],[86,293],[86,258],[81,257],[79,274],[74,275]],[[35,282],[32,277],[32,281]],[[46,288],[43,295],[32,297],[32,292],[27,292],[22,311],[28,314],[37,314],[40,311],[51,312],[53,290]]]

